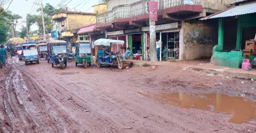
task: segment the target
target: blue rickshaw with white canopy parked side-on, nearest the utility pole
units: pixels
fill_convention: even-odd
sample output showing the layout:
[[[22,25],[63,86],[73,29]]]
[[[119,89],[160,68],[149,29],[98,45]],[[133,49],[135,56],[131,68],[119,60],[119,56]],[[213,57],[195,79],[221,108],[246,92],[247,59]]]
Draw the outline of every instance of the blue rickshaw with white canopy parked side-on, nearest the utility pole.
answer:
[[[95,46],[107,46],[111,49],[111,45],[122,45],[123,46],[124,41],[123,40],[112,40],[112,39],[98,39],[94,41]],[[97,54],[97,60],[96,65],[98,68],[101,67],[101,65],[110,65],[110,66],[117,66],[119,69],[124,68],[123,63],[123,55],[120,54],[119,51],[110,52],[109,55],[105,54],[103,49],[98,50]]]

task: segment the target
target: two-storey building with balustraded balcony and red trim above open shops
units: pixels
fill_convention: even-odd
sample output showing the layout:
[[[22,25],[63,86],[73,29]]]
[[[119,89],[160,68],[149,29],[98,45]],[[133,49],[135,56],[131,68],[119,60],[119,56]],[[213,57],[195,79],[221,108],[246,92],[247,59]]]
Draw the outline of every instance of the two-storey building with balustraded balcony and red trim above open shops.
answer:
[[[218,43],[218,21],[200,21],[227,9],[235,0],[157,0],[156,36],[162,40],[162,59],[194,60],[211,57]],[[146,59],[149,47],[149,14],[146,0],[108,0],[106,13],[96,16],[97,30],[125,41],[133,53]],[[119,49],[122,51],[122,49]]]

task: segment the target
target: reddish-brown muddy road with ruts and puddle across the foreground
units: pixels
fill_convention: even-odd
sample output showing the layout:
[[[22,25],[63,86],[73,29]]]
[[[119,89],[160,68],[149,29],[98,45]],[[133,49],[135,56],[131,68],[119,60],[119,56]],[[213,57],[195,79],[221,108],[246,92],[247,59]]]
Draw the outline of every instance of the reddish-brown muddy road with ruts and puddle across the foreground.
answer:
[[[0,132],[256,132],[255,85],[178,65],[61,70],[13,57]]]

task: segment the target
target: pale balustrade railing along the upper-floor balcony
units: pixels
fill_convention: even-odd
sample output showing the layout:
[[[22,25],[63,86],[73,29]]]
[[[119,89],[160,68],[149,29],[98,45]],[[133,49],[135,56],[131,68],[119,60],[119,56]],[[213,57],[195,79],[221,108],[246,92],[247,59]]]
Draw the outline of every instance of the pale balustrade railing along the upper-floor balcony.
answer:
[[[158,9],[163,10],[181,4],[200,4],[200,0],[157,0]],[[98,24],[112,22],[114,19],[130,18],[132,16],[143,15],[148,13],[147,1],[141,0],[127,5],[118,5],[113,7],[111,11],[96,16]]]

